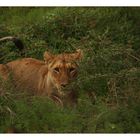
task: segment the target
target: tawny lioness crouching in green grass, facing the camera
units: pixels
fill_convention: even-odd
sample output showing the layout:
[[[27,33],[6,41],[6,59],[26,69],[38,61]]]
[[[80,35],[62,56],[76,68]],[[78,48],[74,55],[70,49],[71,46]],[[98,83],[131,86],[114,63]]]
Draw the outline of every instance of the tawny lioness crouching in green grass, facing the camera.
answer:
[[[23,58],[0,65],[0,76],[7,79],[12,74],[14,84],[37,95],[47,95],[61,103],[63,89],[77,76],[77,61],[82,51],[53,55],[44,53],[44,61]]]

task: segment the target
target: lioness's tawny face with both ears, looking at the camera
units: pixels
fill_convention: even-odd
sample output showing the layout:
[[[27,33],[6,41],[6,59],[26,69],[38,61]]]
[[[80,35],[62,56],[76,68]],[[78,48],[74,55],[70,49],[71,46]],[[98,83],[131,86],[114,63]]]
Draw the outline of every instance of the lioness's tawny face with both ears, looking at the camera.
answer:
[[[81,50],[77,50],[71,54],[65,53],[59,55],[52,55],[48,52],[44,53],[44,59],[48,65],[49,77],[51,77],[53,85],[58,89],[60,94],[77,77],[78,65],[76,62],[81,57]]]

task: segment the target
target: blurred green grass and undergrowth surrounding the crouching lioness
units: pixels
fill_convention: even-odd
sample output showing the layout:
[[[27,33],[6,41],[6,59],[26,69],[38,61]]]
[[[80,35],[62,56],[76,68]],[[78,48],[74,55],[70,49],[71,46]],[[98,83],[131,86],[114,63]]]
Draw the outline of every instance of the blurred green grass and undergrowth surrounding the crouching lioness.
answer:
[[[24,55],[13,42],[0,42],[0,63],[78,48],[84,59],[73,84],[75,107],[24,96],[1,82],[1,133],[140,132],[140,8],[1,7],[0,38],[5,36],[19,37]]]

